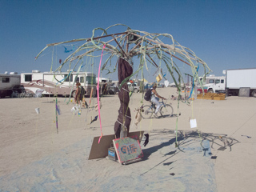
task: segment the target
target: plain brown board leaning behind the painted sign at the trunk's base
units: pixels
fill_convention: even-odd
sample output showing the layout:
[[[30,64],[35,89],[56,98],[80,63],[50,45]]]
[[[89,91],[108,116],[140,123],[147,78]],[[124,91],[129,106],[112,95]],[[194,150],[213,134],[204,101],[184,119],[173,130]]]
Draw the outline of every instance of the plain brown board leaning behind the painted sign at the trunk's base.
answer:
[[[144,134],[144,131],[135,131],[135,132],[130,132],[129,137],[133,137],[136,135],[139,139],[139,142],[142,140],[142,136]],[[90,149],[90,155],[89,155],[89,160],[90,159],[95,159],[95,158],[106,158],[108,155],[108,148],[110,148],[111,144],[113,143],[113,140],[115,139],[114,134],[109,134],[109,135],[103,135],[101,138],[101,142],[98,143],[98,138],[99,137],[94,137],[94,141],[92,143],[91,149]]]

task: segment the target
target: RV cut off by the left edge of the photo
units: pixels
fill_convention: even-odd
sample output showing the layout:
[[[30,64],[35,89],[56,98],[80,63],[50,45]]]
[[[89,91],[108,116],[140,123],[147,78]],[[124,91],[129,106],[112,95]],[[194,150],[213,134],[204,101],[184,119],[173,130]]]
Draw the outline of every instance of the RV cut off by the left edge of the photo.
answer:
[[[17,72],[0,74],[0,98],[11,96],[14,90],[19,90],[21,75]]]

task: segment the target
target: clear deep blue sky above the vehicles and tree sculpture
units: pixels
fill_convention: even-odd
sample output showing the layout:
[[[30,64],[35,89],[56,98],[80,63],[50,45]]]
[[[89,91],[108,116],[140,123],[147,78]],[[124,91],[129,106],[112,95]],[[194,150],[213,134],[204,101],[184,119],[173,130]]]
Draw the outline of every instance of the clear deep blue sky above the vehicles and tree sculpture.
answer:
[[[0,73],[50,71],[50,51],[34,61],[46,44],[90,38],[116,23],[173,35],[215,75],[256,67],[256,1],[1,0]]]

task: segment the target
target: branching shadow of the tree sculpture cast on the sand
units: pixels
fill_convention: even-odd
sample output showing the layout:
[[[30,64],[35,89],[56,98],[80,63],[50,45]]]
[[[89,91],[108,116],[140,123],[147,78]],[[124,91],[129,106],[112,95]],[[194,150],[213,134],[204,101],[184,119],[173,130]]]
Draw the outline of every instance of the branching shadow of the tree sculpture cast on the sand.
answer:
[[[201,140],[200,146],[202,148],[199,151],[203,152],[202,156],[211,157],[212,159],[215,159],[216,156],[212,156],[212,154],[210,152],[210,148],[214,149],[214,147],[217,146],[218,150],[226,150],[227,148],[230,148],[230,151],[231,151],[231,146],[238,143],[237,139],[227,137],[226,134],[202,133],[198,130],[197,131],[178,130],[177,131],[177,140],[176,140],[175,130],[166,130],[166,129],[152,130],[150,133],[150,138],[151,139],[158,139],[158,138],[166,139],[166,137],[170,137],[170,135],[173,135],[174,138],[171,138],[167,142],[162,142],[158,146],[152,146],[150,148],[143,150],[144,157],[143,157],[142,161],[146,161],[150,157],[151,154],[154,154],[154,152],[162,149],[165,146],[171,146],[172,144],[175,143],[175,147],[173,148],[173,150],[171,150],[171,148],[170,148],[170,152],[163,154],[164,157],[166,157],[166,158],[164,158],[161,162],[158,162],[158,164],[154,165],[149,170],[146,170],[146,172],[142,173],[141,176],[148,173],[150,170],[154,170],[154,168],[156,168],[157,166],[160,166],[160,165],[169,166],[169,165],[173,164],[175,161],[167,162],[167,160],[169,160],[170,158],[173,158],[174,155],[176,155],[178,153],[181,153],[181,152],[185,153],[185,151],[183,151],[184,149],[187,150],[192,147],[191,149],[195,150],[194,142],[198,142]],[[150,138],[149,138],[149,142],[150,142]],[[208,143],[210,145],[208,145],[208,146],[204,145],[203,141],[207,141],[207,142],[209,141]],[[172,169],[172,168],[170,168],[170,169]],[[172,174],[172,175],[174,175],[174,174]]]

